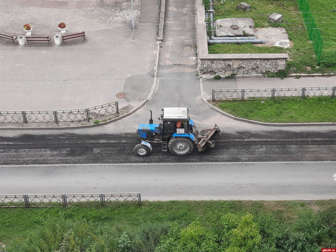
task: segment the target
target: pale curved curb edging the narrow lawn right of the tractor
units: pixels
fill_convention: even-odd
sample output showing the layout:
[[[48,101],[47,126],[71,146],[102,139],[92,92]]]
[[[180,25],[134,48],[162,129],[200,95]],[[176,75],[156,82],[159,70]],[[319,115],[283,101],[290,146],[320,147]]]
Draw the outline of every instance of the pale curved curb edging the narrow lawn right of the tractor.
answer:
[[[206,102],[206,104],[214,111],[217,113],[226,116],[230,119],[240,121],[240,122],[245,122],[245,123],[250,123],[250,124],[255,124],[255,125],[263,125],[263,126],[274,126],[274,127],[295,127],[295,126],[336,126],[336,123],[332,122],[325,122],[325,123],[265,123],[265,122],[259,122],[259,121],[253,121],[253,120],[248,120],[245,118],[240,118],[236,117],[234,115],[228,114],[215,106],[213,106],[208,100],[205,98],[205,95],[203,93],[203,83],[202,83],[202,78],[200,78],[200,87],[201,87],[201,95],[202,95],[202,100]]]

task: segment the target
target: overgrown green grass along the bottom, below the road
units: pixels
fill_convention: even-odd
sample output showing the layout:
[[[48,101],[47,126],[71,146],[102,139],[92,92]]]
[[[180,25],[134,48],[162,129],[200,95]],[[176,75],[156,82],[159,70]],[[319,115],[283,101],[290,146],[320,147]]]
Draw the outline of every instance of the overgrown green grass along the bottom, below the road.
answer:
[[[162,242],[165,245],[170,243],[165,235],[168,230],[173,232],[171,225],[176,223],[175,232],[182,230],[183,233],[183,230],[189,230],[190,223],[197,220],[199,228],[206,230],[207,236],[214,237],[215,246],[220,246],[218,239],[221,238],[215,235],[221,230],[217,221],[221,221],[223,216],[237,221],[246,213],[252,214],[253,222],[250,223],[255,223],[253,226],[262,238],[262,242],[256,245],[260,250],[254,251],[304,251],[288,250],[297,244],[313,248],[309,251],[321,251],[321,246],[336,243],[333,238],[336,227],[331,225],[336,221],[336,200],[144,201],[142,207],[0,208],[0,242],[6,245],[8,252],[161,252],[165,250],[155,249]],[[330,225],[330,228],[324,228],[325,225]],[[279,250],[269,250],[274,246]]]

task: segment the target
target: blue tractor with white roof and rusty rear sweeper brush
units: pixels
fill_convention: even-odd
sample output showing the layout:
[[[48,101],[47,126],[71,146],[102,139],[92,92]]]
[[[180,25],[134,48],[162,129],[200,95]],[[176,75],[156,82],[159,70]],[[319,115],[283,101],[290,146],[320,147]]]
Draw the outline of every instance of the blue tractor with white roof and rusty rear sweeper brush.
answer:
[[[198,151],[213,148],[216,135],[220,136],[218,126],[198,131],[189,117],[188,108],[163,108],[159,124],[153,124],[152,111],[149,124],[139,124],[136,135],[141,143],[134,147],[138,156],[147,156],[152,151],[150,142],[161,142],[161,150],[175,156],[187,156],[197,145]]]

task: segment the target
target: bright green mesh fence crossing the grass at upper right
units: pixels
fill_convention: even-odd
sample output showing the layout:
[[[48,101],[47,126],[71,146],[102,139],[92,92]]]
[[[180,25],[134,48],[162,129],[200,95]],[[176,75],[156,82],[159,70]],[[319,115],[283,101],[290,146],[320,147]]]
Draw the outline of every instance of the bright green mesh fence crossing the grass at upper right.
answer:
[[[301,15],[304,19],[308,37],[311,45],[314,49],[318,64],[324,63],[326,65],[336,64],[336,43],[335,42],[323,42],[321,32],[313,12],[311,12],[307,0],[297,0]]]

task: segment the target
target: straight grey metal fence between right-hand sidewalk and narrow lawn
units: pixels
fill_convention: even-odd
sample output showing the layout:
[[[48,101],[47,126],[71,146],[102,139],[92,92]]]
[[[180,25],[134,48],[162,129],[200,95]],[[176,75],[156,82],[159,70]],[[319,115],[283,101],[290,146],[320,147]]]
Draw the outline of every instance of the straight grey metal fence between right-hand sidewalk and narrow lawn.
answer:
[[[274,100],[329,96],[335,98],[333,87],[238,88],[212,89],[212,101],[222,100]]]

